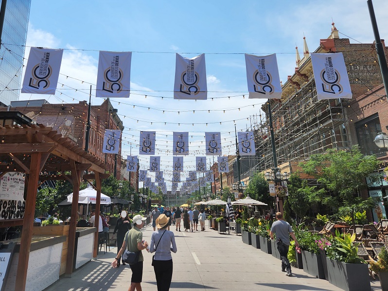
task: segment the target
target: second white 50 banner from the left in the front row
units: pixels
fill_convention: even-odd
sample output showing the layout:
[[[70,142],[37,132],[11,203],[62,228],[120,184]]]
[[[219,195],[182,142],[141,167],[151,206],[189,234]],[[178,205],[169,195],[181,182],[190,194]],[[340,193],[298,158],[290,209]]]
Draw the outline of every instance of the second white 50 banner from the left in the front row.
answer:
[[[131,84],[130,51],[100,51],[96,97],[128,98]]]

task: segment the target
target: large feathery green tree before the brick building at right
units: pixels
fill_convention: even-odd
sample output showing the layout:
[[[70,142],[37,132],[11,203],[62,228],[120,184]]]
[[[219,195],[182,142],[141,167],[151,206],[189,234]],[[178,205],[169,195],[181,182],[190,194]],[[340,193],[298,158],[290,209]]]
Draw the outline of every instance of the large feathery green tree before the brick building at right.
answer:
[[[375,155],[361,154],[357,146],[343,151],[330,149],[324,154],[314,154],[303,171],[314,176],[327,190],[317,193],[317,199],[335,211],[349,214],[354,224],[354,213],[373,207],[376,199],[359,197],[359,190],[366,188],[365,177],[377,170],[379,161]]]

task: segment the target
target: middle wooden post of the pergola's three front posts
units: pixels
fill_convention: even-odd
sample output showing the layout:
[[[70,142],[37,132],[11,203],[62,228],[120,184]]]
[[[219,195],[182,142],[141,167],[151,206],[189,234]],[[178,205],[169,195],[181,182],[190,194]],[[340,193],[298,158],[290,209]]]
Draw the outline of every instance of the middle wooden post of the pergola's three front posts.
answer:
[[[71,203],[71,218],[70,218],[70,229],[69,229],[69,245],[68,254],[66,258],[66,277],[71,277],[73,272],[73,257],[75,249],[75,231],[77,227],[77,214],[78,214],[78,197],[79,187],[81,184],[81,171],[76,170],[75,162],[70,160],[71,165],[71,179],[73,184],[73,201]]]

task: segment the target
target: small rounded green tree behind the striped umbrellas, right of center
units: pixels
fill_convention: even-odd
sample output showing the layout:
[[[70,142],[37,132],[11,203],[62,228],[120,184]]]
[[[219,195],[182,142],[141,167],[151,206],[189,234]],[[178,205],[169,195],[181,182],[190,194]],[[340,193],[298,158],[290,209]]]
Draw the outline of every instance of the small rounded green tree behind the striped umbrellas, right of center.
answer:
[[[249,183],[245,193],[252,199],[259,200],[268,205],[273,204],[273,199],[269,195],[268,181],[263,172],[255,172],[249,178]]]

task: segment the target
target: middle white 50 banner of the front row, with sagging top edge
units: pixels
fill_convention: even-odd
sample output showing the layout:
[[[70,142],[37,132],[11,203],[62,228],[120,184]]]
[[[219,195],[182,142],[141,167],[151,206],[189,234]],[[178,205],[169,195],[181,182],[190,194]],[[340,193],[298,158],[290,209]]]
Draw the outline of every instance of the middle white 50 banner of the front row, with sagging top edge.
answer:
[[[174,99],[208,99],[205,54],[192,59],[176,54]]]

